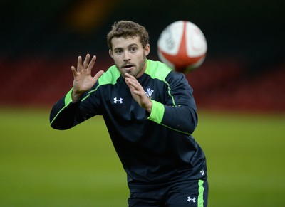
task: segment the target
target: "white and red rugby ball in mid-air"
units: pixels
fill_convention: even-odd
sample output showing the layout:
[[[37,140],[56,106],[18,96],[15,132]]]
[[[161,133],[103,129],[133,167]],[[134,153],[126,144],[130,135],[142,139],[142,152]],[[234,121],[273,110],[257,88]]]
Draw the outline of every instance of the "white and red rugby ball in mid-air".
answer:
[[[204,62],[207,41],[201,29],[190,21],[175,21],[157,41],[157,54],[172,70],[188,73]]]

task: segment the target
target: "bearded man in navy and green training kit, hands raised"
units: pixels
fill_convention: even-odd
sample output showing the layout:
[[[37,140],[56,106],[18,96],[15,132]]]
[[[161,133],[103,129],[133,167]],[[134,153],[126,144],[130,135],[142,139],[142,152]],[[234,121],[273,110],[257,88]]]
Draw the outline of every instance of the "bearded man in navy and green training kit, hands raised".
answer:
[[[115,65],[92,77],[96,57],[78,57],[72,89],[51,110],[51,127],[69,129],[102,115],[128,176],[129,206],[207,206],[204,152],[192,137],[197,109],[185,75],[148,60],[148,33],[113,24],[107,40]]]

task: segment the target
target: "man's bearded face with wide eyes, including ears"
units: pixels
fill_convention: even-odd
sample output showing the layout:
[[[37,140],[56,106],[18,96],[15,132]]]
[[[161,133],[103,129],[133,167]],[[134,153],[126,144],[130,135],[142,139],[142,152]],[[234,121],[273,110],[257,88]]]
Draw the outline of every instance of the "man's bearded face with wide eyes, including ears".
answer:
[[[150,45],[147,44],[142,48],[140,38],[113,38],[112,51],[109,51],[110,56],[114,59],[120,74],[125,73],[133,75],[135,78],[140,77],[145,72],[146,56],[150,53]]]

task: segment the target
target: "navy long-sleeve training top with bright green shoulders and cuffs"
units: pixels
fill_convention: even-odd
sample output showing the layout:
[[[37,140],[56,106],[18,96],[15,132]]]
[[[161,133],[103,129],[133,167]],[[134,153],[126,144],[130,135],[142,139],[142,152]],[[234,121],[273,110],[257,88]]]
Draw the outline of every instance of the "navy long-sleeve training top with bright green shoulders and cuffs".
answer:
[[[51,110],[51,127],[69,129],[102,115],[133,191],[165,184],[179,176],[207,176],[204,152],[192,137],[197,108],[185,75],[147,60],[138,82],[152,101],[149,114],[135,102],[123,76],[111,66],[78,102],[72,90]]]

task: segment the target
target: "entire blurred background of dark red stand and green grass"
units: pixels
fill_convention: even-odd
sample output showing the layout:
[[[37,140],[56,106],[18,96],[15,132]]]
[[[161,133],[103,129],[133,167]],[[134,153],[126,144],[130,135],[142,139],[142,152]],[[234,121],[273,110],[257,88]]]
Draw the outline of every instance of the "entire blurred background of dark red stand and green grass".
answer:
[[[67,131],[48,120],[78,55],[97,55],[94,73],[113,64],[105,36],[121,19],[147,28],[153,59],[173,21],[192,21],[207,38],[187,79],[209,206],[285,206],[284,1],[0,0],[0,9],[0,206],[127,206],[103,118]]]

